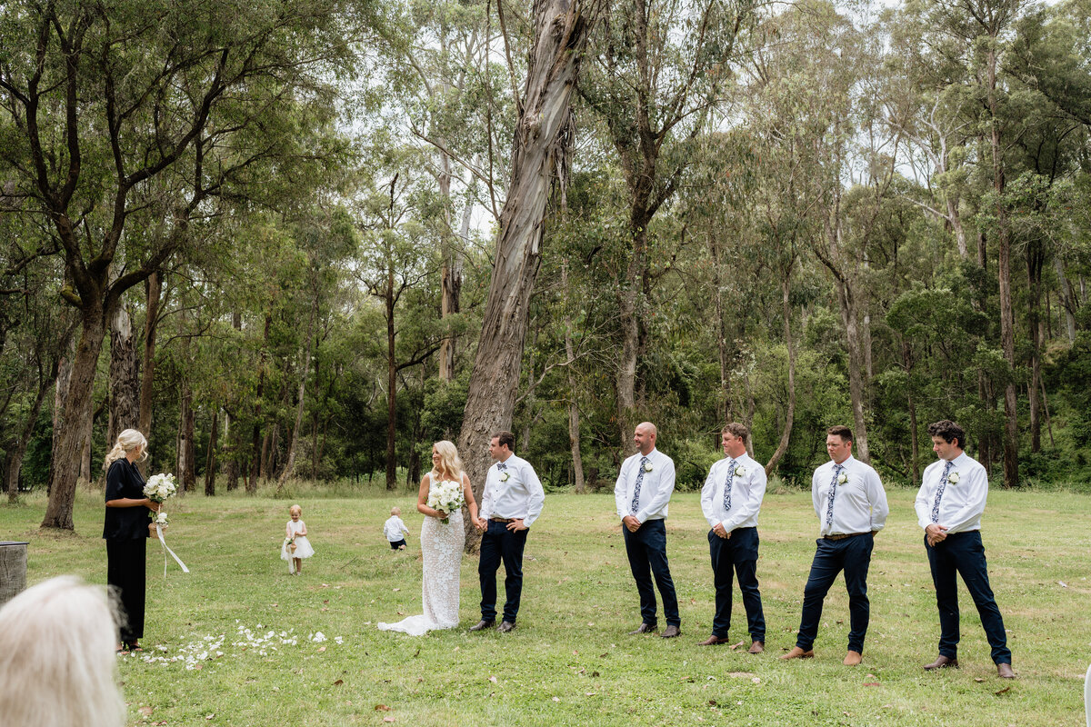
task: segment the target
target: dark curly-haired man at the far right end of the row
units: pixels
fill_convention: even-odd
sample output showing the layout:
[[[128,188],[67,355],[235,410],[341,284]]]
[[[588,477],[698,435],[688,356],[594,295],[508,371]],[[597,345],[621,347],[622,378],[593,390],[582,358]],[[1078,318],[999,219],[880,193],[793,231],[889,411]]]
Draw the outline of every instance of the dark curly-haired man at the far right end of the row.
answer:
[[[924,668],[931,671],[958,666],[957,572],[978,607],[985,638],[993,647],[996,674],[1015,679],[1004,619],[988,585],[985,548],[981,544],[981,513],[985,511],[988,475],[985,468],[962,451],[966,432],[958,424],[949,420],[930,424],[928,435],[932,451],[939,459],[924,471],[914,506],[916,521],[924,529],[924,549],[936,586],[939,656]]]

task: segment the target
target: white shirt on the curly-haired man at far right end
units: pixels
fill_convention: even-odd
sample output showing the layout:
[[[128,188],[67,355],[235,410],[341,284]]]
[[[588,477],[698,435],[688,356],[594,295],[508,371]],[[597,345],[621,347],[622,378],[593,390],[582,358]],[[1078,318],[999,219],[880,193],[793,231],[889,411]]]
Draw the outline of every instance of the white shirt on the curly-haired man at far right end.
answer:
[[[936,504],[936,490],[944,474],[947,460],[936,460],[924,470],[921,477],[921,489],[916,493],[913,504],[916,510],[916,522],[921,528],[932,524],[932,508]],[[958,475],[958,482],[951,483],[951,475]],[[939,499],[939,522],[948,533],[962,533],[970,530],[981,530],[981,513],[985,511],[985,498],[988,496],[988,475],[978,460],[966,452],[951,460],[951,469],[947,473],[947,486]]]

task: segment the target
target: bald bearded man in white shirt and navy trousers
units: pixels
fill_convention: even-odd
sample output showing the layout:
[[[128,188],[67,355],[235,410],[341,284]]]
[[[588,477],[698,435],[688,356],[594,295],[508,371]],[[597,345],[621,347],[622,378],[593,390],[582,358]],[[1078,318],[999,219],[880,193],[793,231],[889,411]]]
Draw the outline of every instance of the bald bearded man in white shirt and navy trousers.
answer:
[[[649,633],[656,630],[656,592],[652,575],[663,599],[667,628],[663,639],[682,633],[679,599],[674,581],[667,564],[667,506],[674,492],[674,462],[656,449],[656,425],[644,422],[636,426],[633,441],[639,450],[621,465],[614,501],[621,518],[621,532],[625,536],[628,567],[640,594],[640,626],[630,633]],[[650,571],[650,572],[649,572]]]

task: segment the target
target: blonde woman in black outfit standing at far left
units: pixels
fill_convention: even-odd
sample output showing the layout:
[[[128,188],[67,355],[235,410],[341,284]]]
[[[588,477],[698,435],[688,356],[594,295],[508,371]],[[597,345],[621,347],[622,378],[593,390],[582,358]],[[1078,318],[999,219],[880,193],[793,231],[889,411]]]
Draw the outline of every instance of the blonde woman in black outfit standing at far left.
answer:
[[[144,497],[144,477],[134,462],[147,457],[147,439],[136,429],[118,435],[106,456],[106,581],[117,590],[124,611],[121,650],[140,651],[144,637],[144,561],[151,536],[148,510],[159,504]]]

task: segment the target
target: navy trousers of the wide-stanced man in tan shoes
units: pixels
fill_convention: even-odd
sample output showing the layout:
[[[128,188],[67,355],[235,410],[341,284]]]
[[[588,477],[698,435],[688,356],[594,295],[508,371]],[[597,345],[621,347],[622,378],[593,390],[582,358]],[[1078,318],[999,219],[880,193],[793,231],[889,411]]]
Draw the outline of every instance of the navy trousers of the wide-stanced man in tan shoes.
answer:
[[[795,645],[810,651],[818,635],[822,619],[822,602],[834,585],[837,574],[844,571],[844,586],[849,591],[849,651],[863,653],[864,637],[871,604],[867,601],[867,567],[872,562],[875,535],[863,533],[840,541],[819,537],[815,559],[811,564],[811,575],[803,590],[803,617]]]

